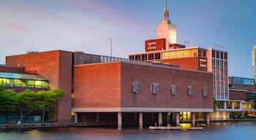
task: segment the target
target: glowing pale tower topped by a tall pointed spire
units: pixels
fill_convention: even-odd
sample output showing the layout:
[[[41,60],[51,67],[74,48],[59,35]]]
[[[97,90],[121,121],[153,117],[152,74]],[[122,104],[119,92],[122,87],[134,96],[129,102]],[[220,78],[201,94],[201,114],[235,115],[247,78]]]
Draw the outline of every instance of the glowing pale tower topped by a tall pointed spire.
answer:
[[[157,25],[157,39],[166,39],[165,50],[170,49],[170,44],[176,44],[176,26],[169,20],[169,9],[165,0],[164,20]]]

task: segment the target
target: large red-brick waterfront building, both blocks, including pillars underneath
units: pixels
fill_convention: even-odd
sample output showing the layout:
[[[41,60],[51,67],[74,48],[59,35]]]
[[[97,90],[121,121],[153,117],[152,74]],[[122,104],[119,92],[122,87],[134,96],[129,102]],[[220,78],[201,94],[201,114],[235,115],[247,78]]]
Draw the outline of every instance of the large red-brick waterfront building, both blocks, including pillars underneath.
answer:
[[[64,90],[58,122],[195,124],[199,118],[209,123],[213,112],[213,77],[207,71],[63,50],[7,56],[6,63],[8,71],[39,74],[50,89]]]

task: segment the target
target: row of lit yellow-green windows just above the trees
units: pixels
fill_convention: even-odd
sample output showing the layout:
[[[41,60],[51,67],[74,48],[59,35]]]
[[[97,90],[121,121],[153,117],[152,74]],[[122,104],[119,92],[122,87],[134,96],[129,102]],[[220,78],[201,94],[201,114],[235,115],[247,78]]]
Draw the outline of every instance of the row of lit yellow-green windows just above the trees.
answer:
[[[49,88],[48,81],[34,80],[34,79],[0,78],[0,85],[3,87]]]

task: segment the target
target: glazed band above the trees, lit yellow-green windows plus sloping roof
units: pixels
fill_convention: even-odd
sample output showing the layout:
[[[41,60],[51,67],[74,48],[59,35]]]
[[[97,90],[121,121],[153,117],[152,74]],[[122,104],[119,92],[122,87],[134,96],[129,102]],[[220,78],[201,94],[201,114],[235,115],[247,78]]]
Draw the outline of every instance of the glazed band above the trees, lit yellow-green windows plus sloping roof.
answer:
[[[48,79],[38,74],[0,72],[0,85],[17,88],[49,88]]]

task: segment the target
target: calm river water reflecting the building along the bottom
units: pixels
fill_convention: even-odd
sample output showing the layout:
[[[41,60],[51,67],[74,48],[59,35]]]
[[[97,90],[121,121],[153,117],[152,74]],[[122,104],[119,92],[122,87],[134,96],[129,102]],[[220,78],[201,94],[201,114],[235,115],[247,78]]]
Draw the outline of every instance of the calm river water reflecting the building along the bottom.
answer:
[[[203,131],[149,131],[147,128],[39,128],[0,130],[0,140],[227,140],[256,139],[256,123],[214,123]]]

